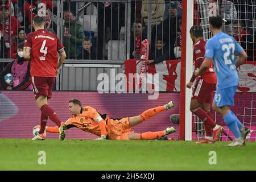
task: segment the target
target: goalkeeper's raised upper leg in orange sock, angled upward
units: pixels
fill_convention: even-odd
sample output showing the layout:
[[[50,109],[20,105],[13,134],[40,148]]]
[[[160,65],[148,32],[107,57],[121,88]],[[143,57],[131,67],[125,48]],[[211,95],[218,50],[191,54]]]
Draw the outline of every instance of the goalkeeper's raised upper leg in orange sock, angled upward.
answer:
[[[129,118],[130,126],[133,127],[135,125],[138,125],[139,123],[142,123],[146,119],[154,117],[154,115],[156,115],[164,110],[171,109],[174,106],[175,106],[174,102],[170,101],[166,105],[154,107],[154,108],[144,111],[140,115],[137,115],[135,117],[130,117]]]

